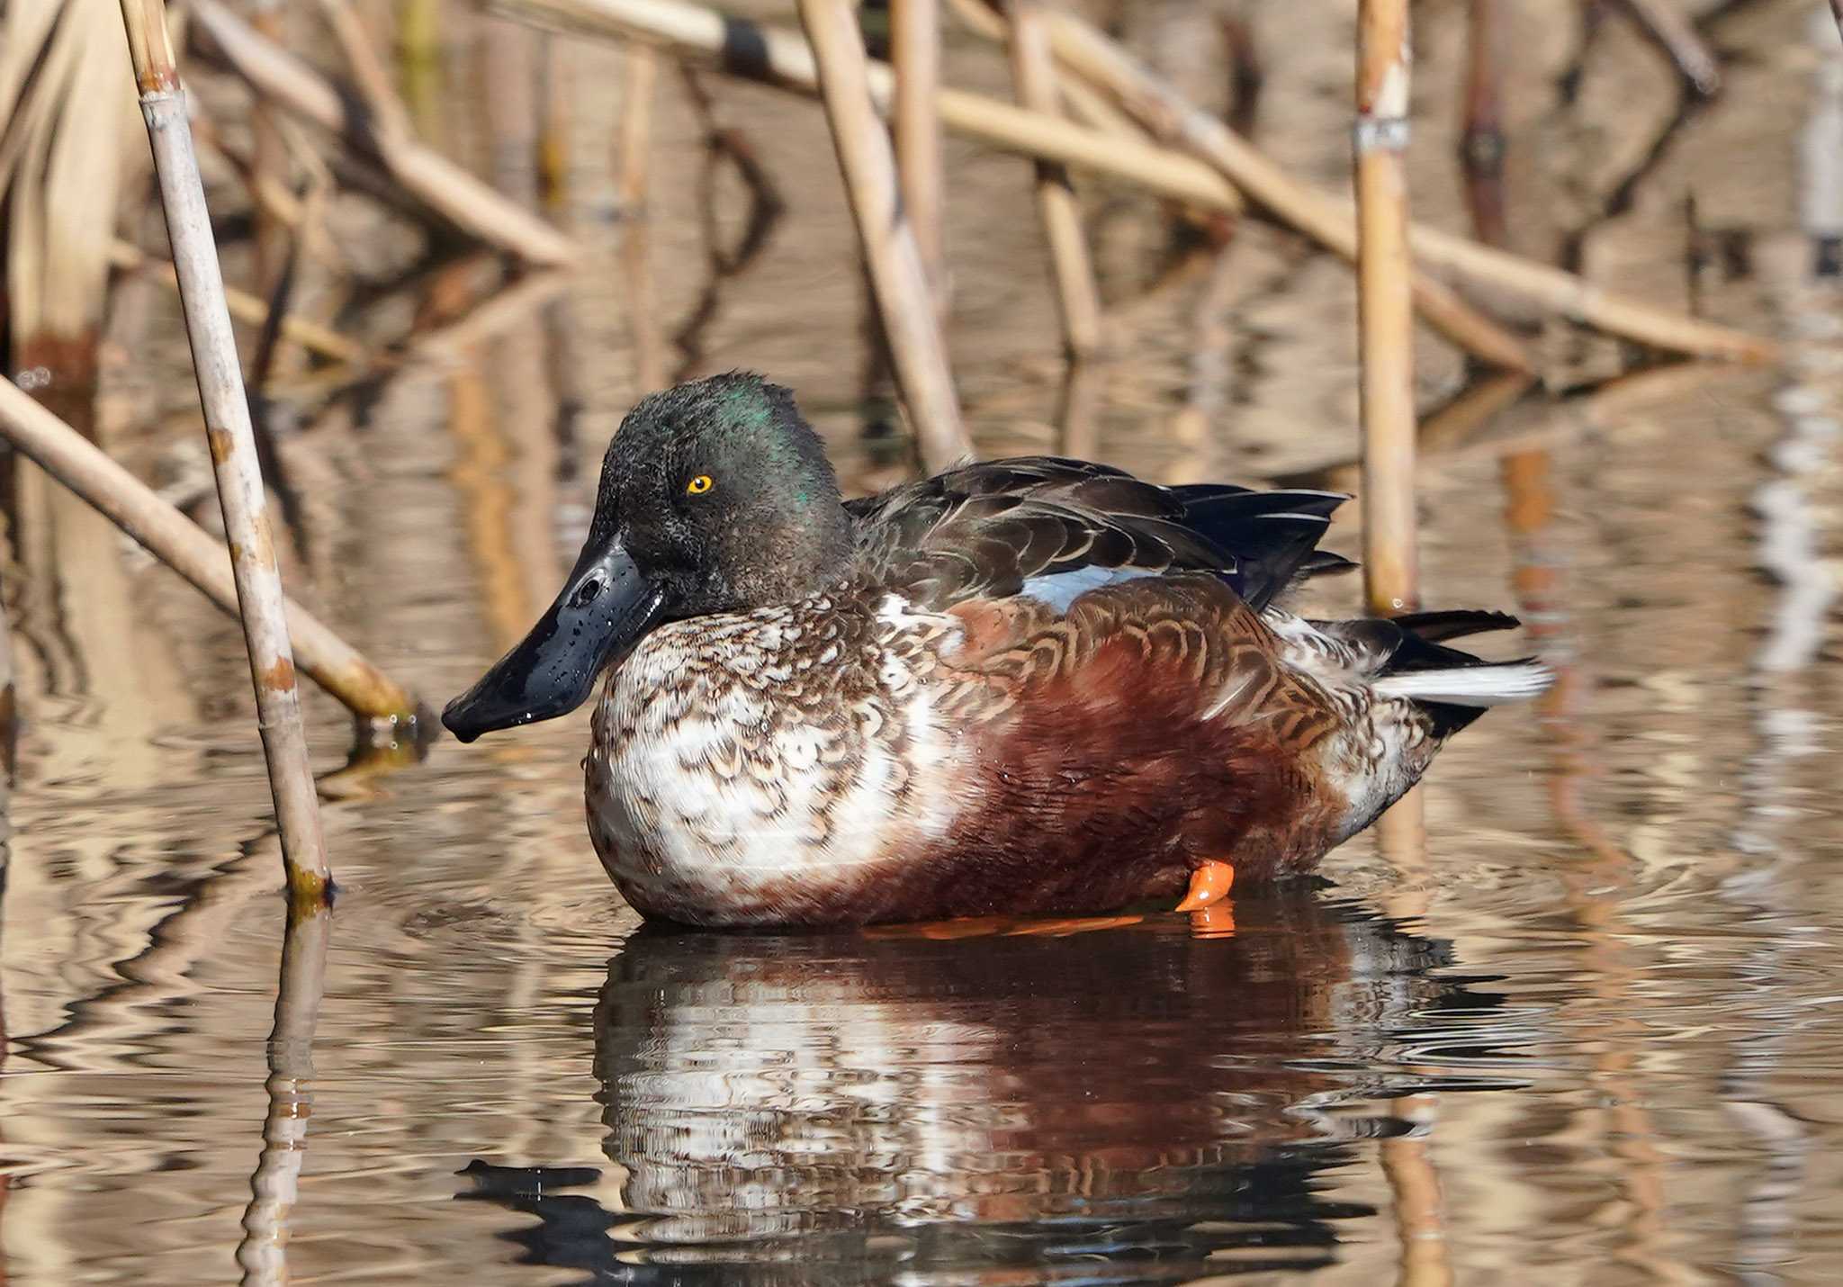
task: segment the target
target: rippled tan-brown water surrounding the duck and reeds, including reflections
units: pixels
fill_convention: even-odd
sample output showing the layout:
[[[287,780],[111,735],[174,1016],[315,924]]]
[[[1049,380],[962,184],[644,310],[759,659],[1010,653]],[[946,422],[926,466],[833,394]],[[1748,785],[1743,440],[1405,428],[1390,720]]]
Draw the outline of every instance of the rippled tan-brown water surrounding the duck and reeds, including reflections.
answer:
[[[1548,2],[1509,6],[1513,242],[1572,243],[1607,284],[1793,360],[1603,384],[1631,354],[1552,328],[1552,387],[1519,400],[1467,391],[1425,339],[1421,402],[1445,407],[1428,433],[1461,439],[1425,470],[1428,601],[1520,610],[1565,682],[1445,752],[1423,826],[1403,815],[1323,883],[1238,891],[1203,924],[641,926],[582,833],[581,717],[382,773],[341,769],[345,723],[310,695],[343,894],[330,926],[284,935],[234,629],[24,470],[4,570],[26,714],[0,918],[6,1278],[1843,1280],[1843,363],[1795,149],[1843,52],[1817,4],[1686,6],[1727,83],[1673,125],[1670,72],[1622,18],[1578,57]],[[1253,133],[1329,183],[1349,6],[1320,7],[1250,7]],[[1417,15],[1415,199],[1463,227],[1445,89],[1463,7]],[[955,59],[1003,85],[977,46]],[[558,310],[520,315],[288,443],[291,583],[437,703],[549,599],[584,465],[634,396],[630,260],[606,218],[619,66],[569,53],[571,214],[593,247],[560,297],[575,347]],[[896,478],[899,450],[861,435],[861,282],[820,118],[708,87],[787,212],[711,288],[702,127],[667,76],[663,336],[710,306],[698,371],[778,374],[855,487]],[[206,98],[234,120],[232,90]],[[470,120],[444,122],[448,146]],[[964,146],[951,162],[971,419],[986,452],[1043,450],[1062,391],[1027,173]],[[745,201],[722,170],[713,192],[730,236]],[[1093,452],[1172,481],[1340,479],[1347,273],[1246,225],[1220,267],[1148,293],[1159,214],[1086,195],[1121,319]],[[361,208],[339,218],[352,245],[391,245]],[[1685,267],[1692,245],[1723,249]],[[103,433],[184,496],[199,463],[170,304],[123,308],[170,365],[111,367]],[[391,336],[411,312],[352,325]],[[551,433],[558,369],[575,441]],[[1353,584],[1325,594],[1355,607]]]

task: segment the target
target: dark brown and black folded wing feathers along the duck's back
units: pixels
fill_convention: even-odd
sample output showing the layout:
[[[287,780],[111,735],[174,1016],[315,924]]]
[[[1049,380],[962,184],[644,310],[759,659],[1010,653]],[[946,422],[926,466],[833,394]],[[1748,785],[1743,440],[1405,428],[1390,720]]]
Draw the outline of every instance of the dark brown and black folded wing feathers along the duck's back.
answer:
[[[1349,566],[1316,549],[1342,502],[1222,483],[1157,487],[1108,465],[1027,455],[964,465],[846,509],[864,573],[936,610],[1087,568],[1213,572],[1261,608],[1299,577]]]

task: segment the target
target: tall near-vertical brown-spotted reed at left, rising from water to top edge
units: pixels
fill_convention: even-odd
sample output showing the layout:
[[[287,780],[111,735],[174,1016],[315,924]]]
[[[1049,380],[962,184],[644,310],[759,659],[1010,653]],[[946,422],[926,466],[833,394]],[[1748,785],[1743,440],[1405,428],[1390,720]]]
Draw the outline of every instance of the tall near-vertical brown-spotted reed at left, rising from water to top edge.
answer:
[[[199,160],[186,125],[186,96],[173,66],[164,0],[122,0],[122,26],[135,61],[140,111],[153,146],[153,171],[160,183],[160,207],[179,269],[179,304],[192,343],[192,367],[205,407],[205,435],[217,476],[217,503],[230,542],[243,642],[249,647],[251,682],[256,686],[256,725],[269,763],[269,795],[282,837],[282,867],[289,898],[302,905],[328,894],[326,841],[321,835],[313,765],[300,723],[300,691],[295,686],[295,655],[288,642],[282,575],[275,562],[269,502],[256,466],[256,433],[249,420],[249,396],[238,367],[236,334],[225,306],[223,277],[212,218],[205,207]]]

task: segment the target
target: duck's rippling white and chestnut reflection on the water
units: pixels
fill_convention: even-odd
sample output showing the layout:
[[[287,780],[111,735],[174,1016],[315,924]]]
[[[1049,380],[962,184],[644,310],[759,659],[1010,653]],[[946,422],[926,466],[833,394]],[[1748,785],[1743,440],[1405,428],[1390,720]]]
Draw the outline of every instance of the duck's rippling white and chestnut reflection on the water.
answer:
[[[1447,944],[1309,891],[1237,898],[1233,920],[953,940],[649,927],[595,1009],[617,1169],[468,1175],[540,1217],[516,1235],[529,1259],[597,1281],[1320,1265],[1340,1222],[1373,1215],[1321,1195],[1331,1173],[1403,1128],[1388,1097],[1478,1084],[1497,998],[1450,975]]]

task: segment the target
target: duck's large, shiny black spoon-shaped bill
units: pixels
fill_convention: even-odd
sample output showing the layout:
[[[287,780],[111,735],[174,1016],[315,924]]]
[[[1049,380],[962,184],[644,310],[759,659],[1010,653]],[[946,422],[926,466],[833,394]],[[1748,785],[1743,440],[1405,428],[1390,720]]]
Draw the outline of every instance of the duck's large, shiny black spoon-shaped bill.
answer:
[[[619,538],[590,540],[557,603],[518,647],[442,710],[461,741],[483,732],[557,719],[588,701],[595,677],[660,618],[660,590]]]

